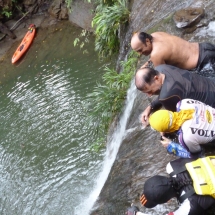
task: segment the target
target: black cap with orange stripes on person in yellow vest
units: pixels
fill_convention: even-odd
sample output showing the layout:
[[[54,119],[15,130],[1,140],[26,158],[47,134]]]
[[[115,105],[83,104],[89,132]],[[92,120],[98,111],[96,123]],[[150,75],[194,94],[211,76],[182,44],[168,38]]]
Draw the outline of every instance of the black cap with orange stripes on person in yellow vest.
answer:
[[[146,208],[153,208],[158,204],[168,202],[176,196],[177,192],[172,186],[171,179],[156,175],[145,182],[140,202]]]

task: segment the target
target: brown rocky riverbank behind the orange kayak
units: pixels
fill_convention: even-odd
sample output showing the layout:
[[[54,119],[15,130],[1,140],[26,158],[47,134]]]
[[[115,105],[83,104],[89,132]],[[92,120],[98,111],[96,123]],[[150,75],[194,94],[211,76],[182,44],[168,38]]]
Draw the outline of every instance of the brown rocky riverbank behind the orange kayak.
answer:
[[[72,13],[68,13],[65,3],[60,0],[47,1],[43,6],[41,6],[38,13],[26,16],[22,19],[16,29],[12,31],[15,34],[16,39],[12,39],[6,35],[0,41],[0,62],[7,57],[11,57],[8,55],[8,51],[11,48],[15,51],[15,46],[19,45],[19,42],[21,42],[21,39],[27,32],[28,26],[32,23],[36,25],[37,29],[45,29],[48,26],[57,24],[58,22],[69,20],[71,25],[92,31],[91,21],[93,18],[92,10],[94,9],[94,4],[90,4],[84,0],[74,1],[72,2],[71,7]],[[11,29],[16,22],[17,20],[9,20],[4,24]],[[0,32],[0,38],[3,36],[4,34]]]

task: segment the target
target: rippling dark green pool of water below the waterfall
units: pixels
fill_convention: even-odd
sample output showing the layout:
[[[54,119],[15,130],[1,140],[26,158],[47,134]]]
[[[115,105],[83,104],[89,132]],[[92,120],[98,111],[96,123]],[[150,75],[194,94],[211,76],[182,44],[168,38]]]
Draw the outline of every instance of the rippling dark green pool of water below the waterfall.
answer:
[[[86,126],[86,95],[104,73],[93,51],[74,48],[68,22],[41,30],[16,65],[0,64],[0,214],[74,215],[93,190],[103,152]],[[13,51],[19,43],[9,51]],[[83,214],[82,214],[83,215]]]

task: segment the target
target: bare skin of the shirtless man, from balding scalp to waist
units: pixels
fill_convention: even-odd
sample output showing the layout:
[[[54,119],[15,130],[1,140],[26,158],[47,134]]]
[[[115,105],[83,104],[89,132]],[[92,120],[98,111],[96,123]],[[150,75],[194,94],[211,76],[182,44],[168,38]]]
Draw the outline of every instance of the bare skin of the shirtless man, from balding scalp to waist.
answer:
[[[131,47],[140,54],[150,55],[149,60],[154,66],[169,64],[188,70],[196,68],[199,59],[198,43],[190,43],[165,32],[146,35],[152,36],[152,38],[144,38],[145,43],[143,43],[138,38],[138,33],[134,34],[131,39]]]

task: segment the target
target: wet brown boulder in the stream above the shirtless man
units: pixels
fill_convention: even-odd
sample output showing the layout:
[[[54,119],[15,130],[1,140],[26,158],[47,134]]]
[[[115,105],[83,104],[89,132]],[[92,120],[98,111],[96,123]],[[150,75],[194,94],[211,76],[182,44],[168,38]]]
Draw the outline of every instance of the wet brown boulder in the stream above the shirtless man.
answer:
[[[204,17],[203,8],[188,7],[175,12],[173,20],[178,28],[192,27]]]

